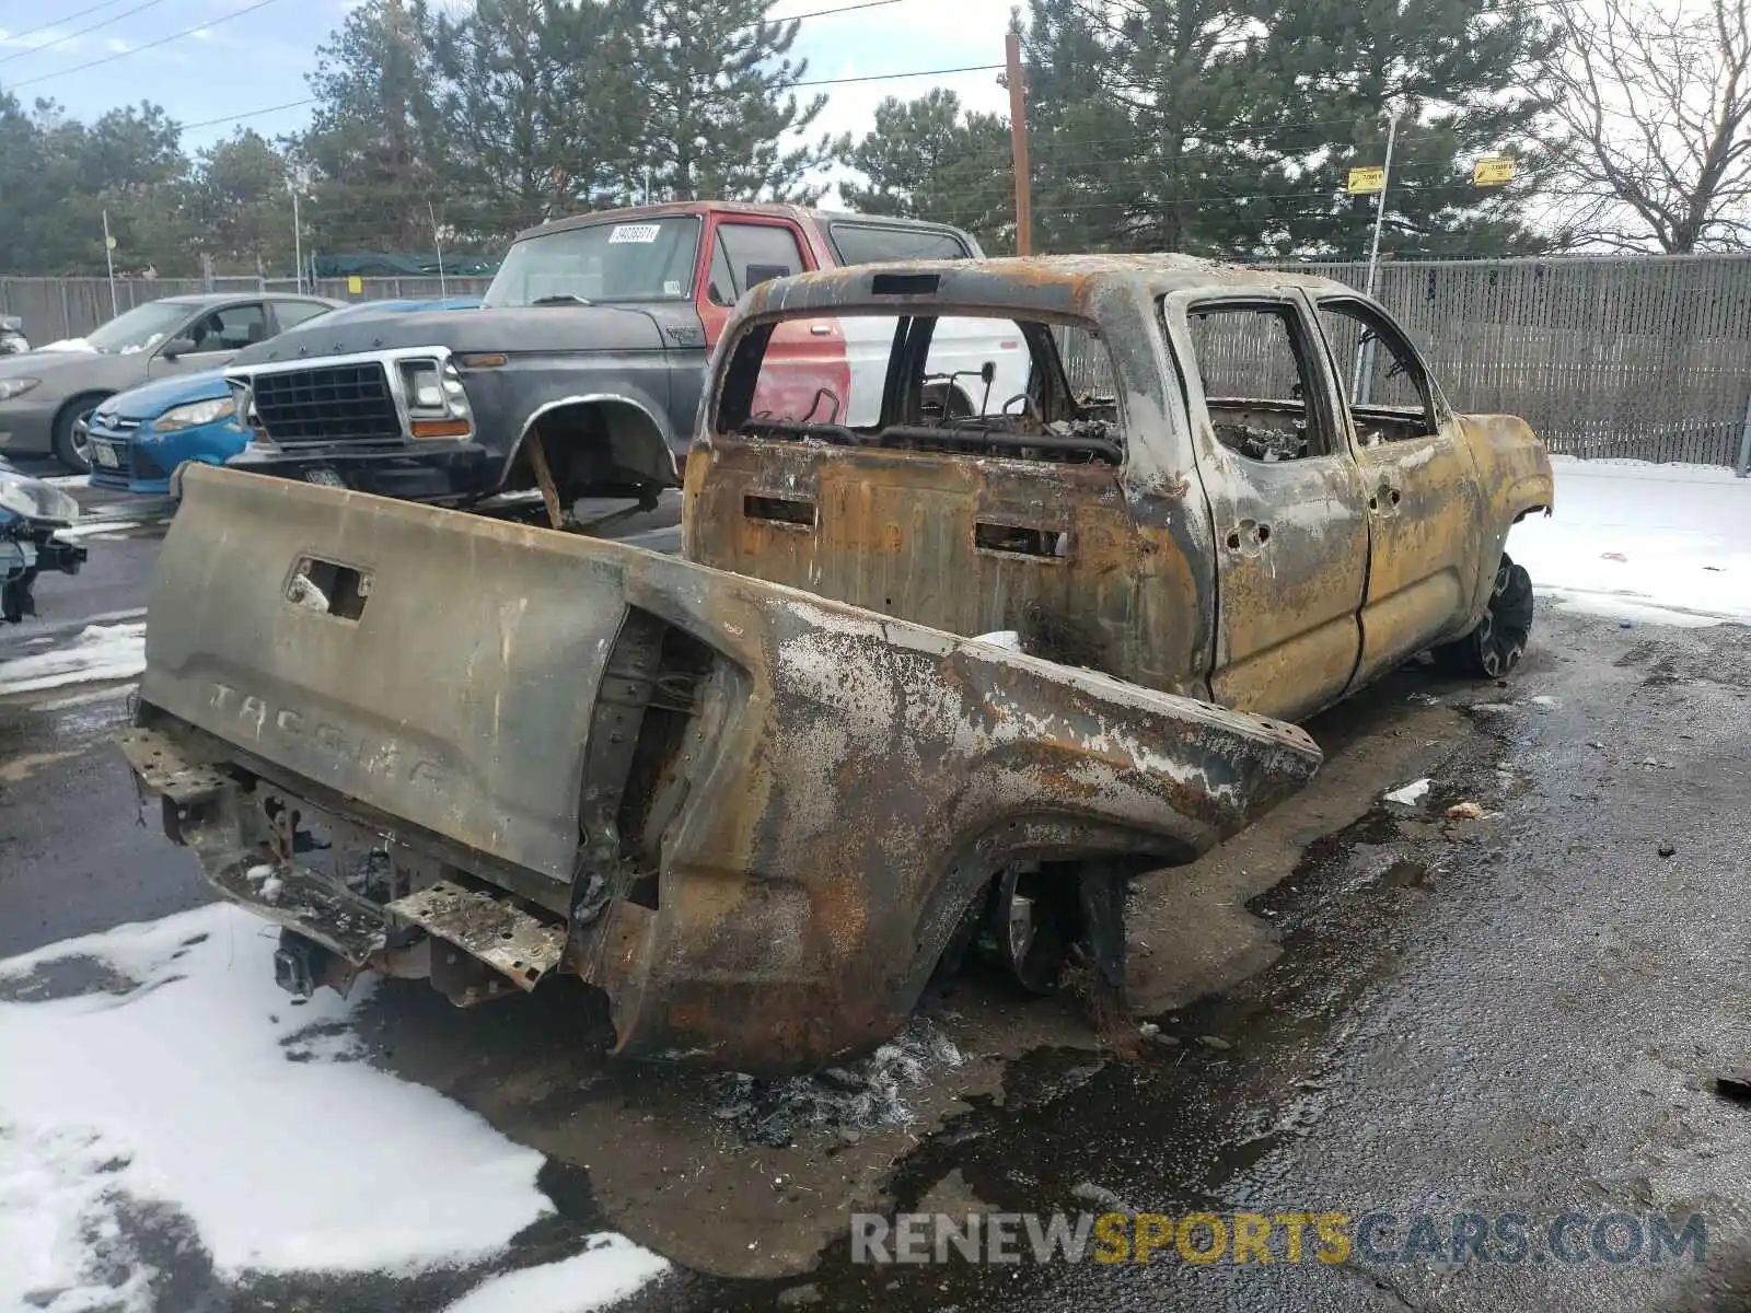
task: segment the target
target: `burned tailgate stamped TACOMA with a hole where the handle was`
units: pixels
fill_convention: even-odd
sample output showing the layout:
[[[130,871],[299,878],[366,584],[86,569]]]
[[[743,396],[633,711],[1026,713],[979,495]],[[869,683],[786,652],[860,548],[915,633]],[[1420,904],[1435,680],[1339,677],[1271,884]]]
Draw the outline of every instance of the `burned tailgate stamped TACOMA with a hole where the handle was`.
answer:
[[[191,467],[144,702],[569,882],[629,548]]]

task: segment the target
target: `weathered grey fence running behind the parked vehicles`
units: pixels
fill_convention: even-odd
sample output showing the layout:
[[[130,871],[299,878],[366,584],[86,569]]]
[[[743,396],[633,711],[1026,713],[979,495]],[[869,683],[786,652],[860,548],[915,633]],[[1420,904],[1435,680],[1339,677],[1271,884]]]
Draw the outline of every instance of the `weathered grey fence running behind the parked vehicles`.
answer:
[[[1368,266],[1296,264],[1362,287]],[[478,296],[487,278],[448,278]],[[221,278],[214,291],[264,287]],[[271,291],[291,291],[284,280]],[[200,292],[198,278],[117,280],[116,306]],[[436,298],[438,278],[345,278],[341,301]],[[1404,261],[1380,266],[1380,299],[1466,411],[1522,415],[1553,452],[1744,467],[1751,446],[1751,256]],[[105,278],[0,278],[0,313],[32,341],[84,336],[110,317]],[[1066,364],[1093,368],[1093,359]],[[1075,376],[1075,373],[1073,373]]]

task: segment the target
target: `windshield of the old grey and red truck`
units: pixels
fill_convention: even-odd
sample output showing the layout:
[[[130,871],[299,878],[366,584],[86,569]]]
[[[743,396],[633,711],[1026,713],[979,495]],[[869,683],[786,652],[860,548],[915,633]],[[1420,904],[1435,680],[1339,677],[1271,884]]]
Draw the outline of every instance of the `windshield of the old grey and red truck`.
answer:
[[[697,254],[695,215],[567,228],[515,243],[482,305],[681,301]]]

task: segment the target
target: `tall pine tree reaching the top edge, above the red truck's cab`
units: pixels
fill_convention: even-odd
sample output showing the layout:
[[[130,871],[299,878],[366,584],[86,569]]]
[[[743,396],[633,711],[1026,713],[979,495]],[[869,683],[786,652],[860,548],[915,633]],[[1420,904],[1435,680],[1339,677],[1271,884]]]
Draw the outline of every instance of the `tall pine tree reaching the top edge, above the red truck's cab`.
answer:
[[[825,96],[798,103],[797,23],[772,0],[646,0],[637,25],[641,147],[655,200],[814,200],[805,179],[830,144],[784,149]]]

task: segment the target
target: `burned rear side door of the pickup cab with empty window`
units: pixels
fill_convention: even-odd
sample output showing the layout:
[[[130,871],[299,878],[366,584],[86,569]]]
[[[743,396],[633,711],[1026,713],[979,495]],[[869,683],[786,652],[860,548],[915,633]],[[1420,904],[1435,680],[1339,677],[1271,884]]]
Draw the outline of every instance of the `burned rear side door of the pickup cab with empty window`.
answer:
[[[1250,460],[1217,438],[1191,336],[1194,306],[1285,315],[1310,392],[1308,418],[1324,425],[1327,452]],[[1220,706],[1294,720],[1350,686],[1368,583],[1368,495],[1345,439],[1324,336],[1296,287],[1178,291],[1161,299],[1159,313],[1178,362],[1213,527],[1210,695]]]

